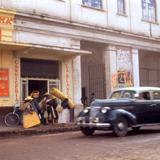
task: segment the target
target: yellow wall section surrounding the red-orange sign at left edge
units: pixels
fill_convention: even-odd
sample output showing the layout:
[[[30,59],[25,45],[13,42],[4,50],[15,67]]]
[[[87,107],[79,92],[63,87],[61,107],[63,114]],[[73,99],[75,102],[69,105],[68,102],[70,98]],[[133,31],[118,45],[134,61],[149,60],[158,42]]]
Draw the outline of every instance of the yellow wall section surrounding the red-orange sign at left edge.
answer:
[[[11,51],[0,50],[0,69],[9,70],[9,96],[0,97],[0,107],[13,105],[14,100],[14,67],[13,67],[13,54]]]

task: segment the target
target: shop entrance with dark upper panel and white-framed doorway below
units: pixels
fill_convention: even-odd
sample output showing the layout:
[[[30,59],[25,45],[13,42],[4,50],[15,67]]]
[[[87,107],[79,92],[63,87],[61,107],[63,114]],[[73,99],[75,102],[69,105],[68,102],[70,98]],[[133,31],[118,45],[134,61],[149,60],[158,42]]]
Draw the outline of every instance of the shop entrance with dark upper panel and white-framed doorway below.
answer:
[[[32,91],[39,91],[40,98],[53,87],[60,89],[59,62],[55,60],[21,59],[21,100]]]

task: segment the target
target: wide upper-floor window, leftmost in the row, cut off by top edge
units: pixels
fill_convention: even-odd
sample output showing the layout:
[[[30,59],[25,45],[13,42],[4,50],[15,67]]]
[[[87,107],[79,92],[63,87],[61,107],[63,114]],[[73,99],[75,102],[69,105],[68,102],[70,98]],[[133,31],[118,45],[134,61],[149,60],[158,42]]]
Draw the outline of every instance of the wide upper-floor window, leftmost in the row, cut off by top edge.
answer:
[[[102,8],[102,0],[82,0],[82,4],[93,8]]]

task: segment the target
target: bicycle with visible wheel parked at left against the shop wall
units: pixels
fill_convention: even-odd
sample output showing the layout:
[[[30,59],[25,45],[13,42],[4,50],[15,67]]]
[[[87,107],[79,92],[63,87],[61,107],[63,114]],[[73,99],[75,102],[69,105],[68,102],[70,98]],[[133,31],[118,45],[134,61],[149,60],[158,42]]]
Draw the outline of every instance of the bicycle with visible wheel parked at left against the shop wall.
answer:
[[[13,106],[13,111],[5,115],[4,122],[5,125],[8,127],[14,127],[20,124],[19,105],[15,104]]]

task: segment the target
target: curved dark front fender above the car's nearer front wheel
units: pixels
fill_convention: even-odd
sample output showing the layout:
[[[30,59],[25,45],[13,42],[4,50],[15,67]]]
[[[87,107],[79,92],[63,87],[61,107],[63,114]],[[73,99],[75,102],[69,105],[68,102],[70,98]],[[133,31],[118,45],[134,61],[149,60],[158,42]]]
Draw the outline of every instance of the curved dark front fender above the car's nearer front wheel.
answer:
[[[124,109],[116,109],[110,112],[109,119],[113,123],[119,117],[125,117],[130,125],[136,125],[137,119],[136,116]]]

